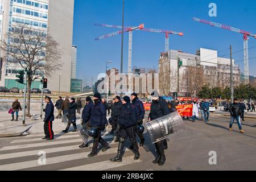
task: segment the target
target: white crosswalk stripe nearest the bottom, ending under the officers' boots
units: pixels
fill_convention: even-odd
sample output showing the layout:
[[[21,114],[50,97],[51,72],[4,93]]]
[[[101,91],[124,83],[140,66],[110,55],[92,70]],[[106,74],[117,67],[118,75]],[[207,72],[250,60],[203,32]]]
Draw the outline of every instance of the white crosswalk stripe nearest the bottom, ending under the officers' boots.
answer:
[[[110,160],[106,160],[104,162],[98,162],[98,163],[86,164],[78,167],[61,169],[60,171],[103,171],[111,168],[126,166],[129,164],[135,164],[139,162],[142,162],[142,160],[141,159],[134,160],[134,156],[129,156],[129,157],[123,158],[121,163],[115,163],[115,162],[110,162]]]

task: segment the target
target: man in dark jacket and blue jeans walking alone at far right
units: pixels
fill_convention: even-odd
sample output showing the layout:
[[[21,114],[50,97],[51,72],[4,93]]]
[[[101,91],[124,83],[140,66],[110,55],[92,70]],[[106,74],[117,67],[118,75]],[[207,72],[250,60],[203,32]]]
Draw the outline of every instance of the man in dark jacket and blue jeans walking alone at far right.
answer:
[[[237,99],[234,99],[234,103],[230,105],[230,109],[229,109],[230,115],[231,115],[231,120],[229,123],[229,131],[232,131],[232,125],[234,123],[234,120],[237,120],[237,125],[239,127],[240,133],[245,133],[245,131],[242,130],[242,126],[241,126],[241,109],[240,109],[240,105],[237,102]]]

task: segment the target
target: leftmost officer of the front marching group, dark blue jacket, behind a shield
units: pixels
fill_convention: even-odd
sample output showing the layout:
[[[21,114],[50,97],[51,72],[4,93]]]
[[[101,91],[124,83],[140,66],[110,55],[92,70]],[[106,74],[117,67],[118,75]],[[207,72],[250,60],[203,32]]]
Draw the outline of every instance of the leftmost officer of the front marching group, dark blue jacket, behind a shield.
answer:
[[[93,104],[92,98],[90,98],[89,96],[86,97],[85,101],[86,103],[85,103],[84,109],[82,110],[82,126],[83,127],[85,126],[87,129],[89,129],[88,121],[90,119],[90,116],[92,115],[94,104]],[[82,143],[81,146],[79,146],[79,148],[85,148],[88,146],[89,146],[88,143]]]

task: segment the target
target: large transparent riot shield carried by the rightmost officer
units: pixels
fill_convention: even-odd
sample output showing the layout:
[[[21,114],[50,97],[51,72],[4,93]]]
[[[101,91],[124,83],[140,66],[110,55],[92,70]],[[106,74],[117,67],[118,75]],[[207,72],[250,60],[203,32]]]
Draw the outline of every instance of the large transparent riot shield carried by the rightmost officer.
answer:
[[[177,111],[146,123],[146,128],[152,143],[170,138],[185,130],[183,119]]]

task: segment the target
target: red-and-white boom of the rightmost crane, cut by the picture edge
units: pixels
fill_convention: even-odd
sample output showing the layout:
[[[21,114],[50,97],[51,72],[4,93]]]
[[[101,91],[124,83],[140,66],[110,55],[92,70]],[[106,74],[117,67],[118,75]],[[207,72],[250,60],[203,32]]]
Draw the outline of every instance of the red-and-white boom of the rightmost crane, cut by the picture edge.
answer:
[[[234,27],[228,26],[226,24],[210,22],[209,20],[204,20],[204,19],[199,19],[199,18],[193,18],[193,20],[196,21],[196,22],[209,24],[212,27],[218,27],[218,28],[222,28],[222,29],[225,29],[225,30],[237,32],[237,33],[240,33],[240,34],[243,34],[243,35],[246,35],[246,36],[252,36],[256,39],[256,34],[252,34],[251,32],[247,32],[247,31],[241,30],[239,28],[234,28]]]

